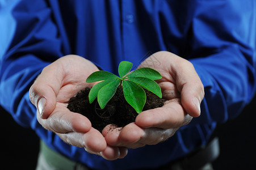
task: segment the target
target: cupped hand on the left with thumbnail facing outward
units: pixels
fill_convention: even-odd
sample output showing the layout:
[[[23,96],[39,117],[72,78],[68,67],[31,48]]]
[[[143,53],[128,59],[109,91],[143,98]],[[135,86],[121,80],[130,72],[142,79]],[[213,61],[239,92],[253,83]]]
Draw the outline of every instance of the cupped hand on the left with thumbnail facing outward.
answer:
[[[127,148],[107,145],[103,135],[91,127],[81,114],[67,109],[70,97],[93,83],[87,77],[98,71],[89,60],[69,55],[45,67],[30,88],[30,99],[37,108],[37,121],[56,133],[63,141],[108,160],[123,158]]]

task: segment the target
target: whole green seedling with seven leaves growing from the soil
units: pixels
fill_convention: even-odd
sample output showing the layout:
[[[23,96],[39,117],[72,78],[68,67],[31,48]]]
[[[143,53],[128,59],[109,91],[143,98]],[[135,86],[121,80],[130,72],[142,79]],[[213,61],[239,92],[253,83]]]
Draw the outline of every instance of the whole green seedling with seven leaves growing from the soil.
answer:
[[[86,79],[87,83],[102,82],[95,84],[91,88],[89,92],[89,102],[93,103],[97,98],[100,108],[103,109],[108,101],[115,95],[116,89],[120,84],[123,85],[125,100],[137,113],[142,112],[146,103],[146,93],[143,88],[162,98],[161,88],[154,81],[161,79],[162,75],[149,67],[142,67],[129,73],[132,69],[132,65],[131,62],[121,61],[118,67],[120,77],[108,71],[95,71],[92,73]]]

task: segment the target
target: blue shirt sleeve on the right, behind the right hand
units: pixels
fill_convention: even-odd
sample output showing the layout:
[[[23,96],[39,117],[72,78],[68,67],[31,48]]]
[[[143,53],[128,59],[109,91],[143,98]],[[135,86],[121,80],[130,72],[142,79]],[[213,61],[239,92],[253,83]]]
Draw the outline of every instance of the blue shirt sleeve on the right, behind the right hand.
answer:
[[[255,1],[199,1],[192,24],[190,59],[205,90],[194,123],[225,122],[255,94]],[[193,123],[191,124],[193,125]]]

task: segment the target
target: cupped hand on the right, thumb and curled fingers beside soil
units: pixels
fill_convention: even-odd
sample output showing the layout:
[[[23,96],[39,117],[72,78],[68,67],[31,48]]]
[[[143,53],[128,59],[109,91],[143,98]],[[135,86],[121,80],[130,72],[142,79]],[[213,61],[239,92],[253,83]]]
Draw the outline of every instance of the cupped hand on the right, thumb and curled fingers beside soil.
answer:
[[[151,67],[162,75],[157,83],[167,101],[161,108],[141,112],[135,122],[124,128],[103,129],[110,146],[156,145],[173,136],[192,117],[200,116],[204,87],[191,62],[173,53],[157,52],[145,59],[140,67]]]

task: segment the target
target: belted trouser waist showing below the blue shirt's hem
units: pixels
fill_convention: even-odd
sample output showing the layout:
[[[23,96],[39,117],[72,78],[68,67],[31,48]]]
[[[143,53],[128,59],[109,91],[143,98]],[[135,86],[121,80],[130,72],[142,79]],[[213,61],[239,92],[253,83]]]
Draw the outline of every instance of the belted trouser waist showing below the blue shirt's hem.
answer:
[[[40,152],[44,156],[45,161],[55,169],[73,169],[73,170],[93,170],[86,165],[74,162],[66,158],[64,155],[53,151],[43,141],[40,142]],[[220,154],[219,139],[216,137],[208,145],[191,152],[187,156],[178,159],[169,164],[163,165],[158,170],[164,169],[186,169],[196,170],[202,168],[205,164],[213,162]]]

